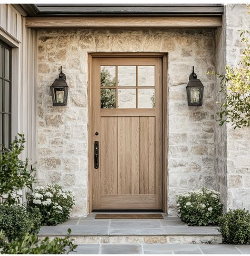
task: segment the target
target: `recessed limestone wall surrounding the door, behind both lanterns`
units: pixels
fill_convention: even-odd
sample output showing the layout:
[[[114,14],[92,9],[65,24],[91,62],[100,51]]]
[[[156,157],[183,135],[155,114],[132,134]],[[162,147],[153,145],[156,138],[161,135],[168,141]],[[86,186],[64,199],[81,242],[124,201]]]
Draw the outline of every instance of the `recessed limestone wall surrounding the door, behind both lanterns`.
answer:
[[[215,188],[215,31],[39,30],[37,170],[39,183],[59,182],[74,190],[73,216],[88,212],[88,52],[169,52],[168,211],[176,194],[203,185]],[[67,77],[68,106],[53,107],[50,85]],[[186,84],[195,66],[205,86],[202,107],[188,107]]]

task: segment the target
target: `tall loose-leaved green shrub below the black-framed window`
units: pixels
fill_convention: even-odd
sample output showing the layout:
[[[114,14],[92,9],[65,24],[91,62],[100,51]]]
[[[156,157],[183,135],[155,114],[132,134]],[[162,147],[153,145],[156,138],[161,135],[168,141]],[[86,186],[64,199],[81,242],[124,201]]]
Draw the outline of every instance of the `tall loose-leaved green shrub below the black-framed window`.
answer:
[[[0,199],[2,204],[12,205],[20,202],[22,195],[18,194],[25,186],[32,189],[35,181],[34,169],[28,169],[28,159],[22,161],[18,158],[24,150],[24,135],[18,134],[7,149],[2,145],[0,154]]]

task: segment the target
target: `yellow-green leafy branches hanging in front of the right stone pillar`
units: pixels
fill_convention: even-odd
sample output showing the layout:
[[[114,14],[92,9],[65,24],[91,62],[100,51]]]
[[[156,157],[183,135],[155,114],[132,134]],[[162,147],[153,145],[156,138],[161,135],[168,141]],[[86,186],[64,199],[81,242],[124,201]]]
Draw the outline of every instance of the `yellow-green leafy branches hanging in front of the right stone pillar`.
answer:
[[[241,42],[245,44],[236,67],[226,66],[225,75],[219,75],[220,92],[225,97],[220,104],[219,125],[232,123],[236,127],[250,127],[250,43],[249,31],[241,31]]]

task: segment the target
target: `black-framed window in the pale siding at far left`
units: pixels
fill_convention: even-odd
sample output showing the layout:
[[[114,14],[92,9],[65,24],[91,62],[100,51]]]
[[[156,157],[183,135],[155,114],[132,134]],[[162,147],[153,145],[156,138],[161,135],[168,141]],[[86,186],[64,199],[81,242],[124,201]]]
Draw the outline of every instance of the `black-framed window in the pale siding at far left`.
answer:
[[[0,40],[0,144],[11,143],[11,47]]]

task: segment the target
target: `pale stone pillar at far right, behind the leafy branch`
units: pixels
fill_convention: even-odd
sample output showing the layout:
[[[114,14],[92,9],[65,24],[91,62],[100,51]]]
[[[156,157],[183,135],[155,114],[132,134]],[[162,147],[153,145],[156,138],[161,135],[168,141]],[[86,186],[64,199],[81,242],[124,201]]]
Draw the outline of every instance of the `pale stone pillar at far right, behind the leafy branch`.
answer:
[[[246,4],[226,5],[226,61],[235,66],[244,44],[239,31],[250,26]],[[250,209],[250,129],[236,129],[227,124],[227,208]]]

